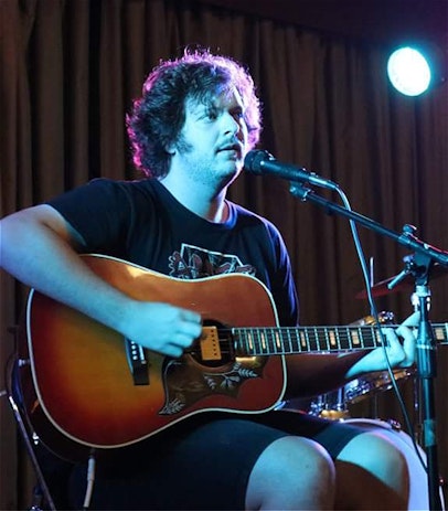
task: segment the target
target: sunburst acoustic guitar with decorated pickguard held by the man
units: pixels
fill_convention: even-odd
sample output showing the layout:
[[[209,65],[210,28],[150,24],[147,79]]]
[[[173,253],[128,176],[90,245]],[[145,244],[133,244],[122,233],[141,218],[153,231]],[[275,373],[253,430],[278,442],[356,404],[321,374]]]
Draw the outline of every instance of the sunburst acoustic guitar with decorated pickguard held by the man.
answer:
[[[374,326],[278,327],[270,292],[244,274],[183,280],[114,257],[83,257],[136,299],[201,313],[203,331],[172,359],[31,290],[19,350],[23,402],[36,435],[68,458],[77,448],[84,456],[130,446],[198,413],[271,409],[286,387],[284,355],[382,343]],[[433,327],[446,341],[448,323]]]

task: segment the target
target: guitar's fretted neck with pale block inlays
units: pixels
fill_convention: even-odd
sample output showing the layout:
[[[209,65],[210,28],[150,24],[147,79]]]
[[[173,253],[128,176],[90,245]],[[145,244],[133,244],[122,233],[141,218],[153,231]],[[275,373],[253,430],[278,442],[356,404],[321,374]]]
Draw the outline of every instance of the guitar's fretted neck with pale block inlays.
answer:
[[[396,326],[387,326],[395,328]],[[376,326],[233,328],[237,355],[274,355],[372,350],[382,345]],[[433,324],[437,343],[448,340],[448,323]]]

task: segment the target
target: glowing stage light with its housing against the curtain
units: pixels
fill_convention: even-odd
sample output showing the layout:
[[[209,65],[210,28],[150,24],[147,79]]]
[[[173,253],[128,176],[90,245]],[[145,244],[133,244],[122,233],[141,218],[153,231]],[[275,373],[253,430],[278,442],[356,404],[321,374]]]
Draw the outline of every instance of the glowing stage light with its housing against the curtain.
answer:
[[[434,46],[401,46],[387,61],[387,76],[402,94],[419,96],[445,81],[441,64],[441,52]]]

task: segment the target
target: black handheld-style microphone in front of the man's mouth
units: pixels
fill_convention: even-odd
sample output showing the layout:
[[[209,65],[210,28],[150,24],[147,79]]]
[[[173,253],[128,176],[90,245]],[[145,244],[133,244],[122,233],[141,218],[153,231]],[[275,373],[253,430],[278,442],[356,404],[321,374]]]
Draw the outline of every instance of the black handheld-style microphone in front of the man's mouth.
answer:
[[[309,172],[306,169],[294,167],[288,163],[280,163],[268,151],[257,149],[249,151],[244,159],[244,169],[249,174],[275,175],[289,181],[299,181],[329,190],[339,189],[337,183],[329,179],[321,178],[314,172]]]

